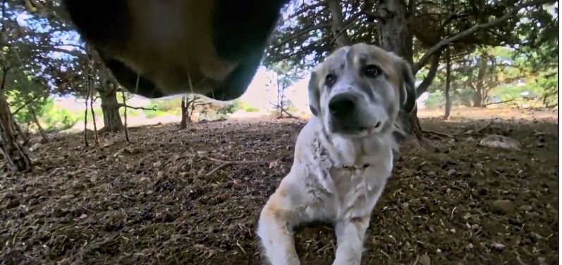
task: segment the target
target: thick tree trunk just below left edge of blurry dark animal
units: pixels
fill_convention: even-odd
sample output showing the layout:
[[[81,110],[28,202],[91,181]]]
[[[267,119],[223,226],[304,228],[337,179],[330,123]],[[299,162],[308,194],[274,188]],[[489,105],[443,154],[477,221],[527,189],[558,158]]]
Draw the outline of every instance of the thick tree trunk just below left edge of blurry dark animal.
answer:
[[[100,131],[121,131],[123,122],[119,115],[119,103],[115,86],[99,89],[99,98],[102,100],[102,112],[104,114],[104,128]]]

